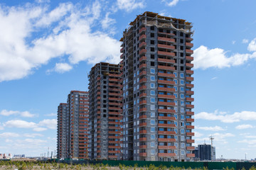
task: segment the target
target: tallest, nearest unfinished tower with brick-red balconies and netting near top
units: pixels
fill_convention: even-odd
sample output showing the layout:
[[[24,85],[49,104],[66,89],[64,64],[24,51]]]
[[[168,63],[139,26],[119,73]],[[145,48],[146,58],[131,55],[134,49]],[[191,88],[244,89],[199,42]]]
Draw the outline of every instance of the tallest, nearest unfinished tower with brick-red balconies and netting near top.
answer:
[[[124,31],[123,158],[192,161],[192,24],[145,12]]]

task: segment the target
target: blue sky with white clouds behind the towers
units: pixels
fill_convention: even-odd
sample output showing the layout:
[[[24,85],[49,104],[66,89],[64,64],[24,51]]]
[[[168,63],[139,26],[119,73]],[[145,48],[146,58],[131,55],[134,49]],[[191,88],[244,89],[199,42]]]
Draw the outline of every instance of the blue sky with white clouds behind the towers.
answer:
[[[119,39],[138,14],[193,23],[196,144],[216,158],[256,158],[256,1],[0,2],[0,153],[56,149],[56,112],[87,91],[97,62],[119,62]]]

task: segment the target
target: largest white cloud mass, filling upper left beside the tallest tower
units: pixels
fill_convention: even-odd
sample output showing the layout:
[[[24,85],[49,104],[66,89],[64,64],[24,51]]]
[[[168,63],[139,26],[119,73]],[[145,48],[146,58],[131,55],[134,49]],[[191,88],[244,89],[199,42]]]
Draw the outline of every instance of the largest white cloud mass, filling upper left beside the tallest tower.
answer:
[[[124,6],[129,4],[142,6],[135,1]],[[56,64],[60,73],[81,61],[118,63],[120,42],[100,29],[101,10],[99,1],[52,10],[47,4],[0,6],[0,82],[22,79],[56,57],[68,58],[69,63]]]

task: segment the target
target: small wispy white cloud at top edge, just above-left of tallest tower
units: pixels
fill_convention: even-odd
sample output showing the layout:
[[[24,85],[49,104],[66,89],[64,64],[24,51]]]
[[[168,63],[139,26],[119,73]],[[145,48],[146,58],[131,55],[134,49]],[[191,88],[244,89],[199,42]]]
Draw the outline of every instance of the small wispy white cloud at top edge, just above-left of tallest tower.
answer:
[[[135,8],[144,8],[144,0],[143,1],[135,1],[135,0],[117,0],[117,6],[119,9],[124,9],[125,11],[132,11]]]

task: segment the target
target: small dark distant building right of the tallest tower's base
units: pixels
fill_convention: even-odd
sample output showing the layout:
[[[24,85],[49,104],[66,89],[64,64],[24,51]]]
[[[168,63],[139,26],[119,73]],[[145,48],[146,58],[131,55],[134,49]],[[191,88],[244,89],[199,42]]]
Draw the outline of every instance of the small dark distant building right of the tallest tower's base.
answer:
[[[211,145],[198,145],[194,154],[196,161],[215,161],[215,147],[211,147]]]

